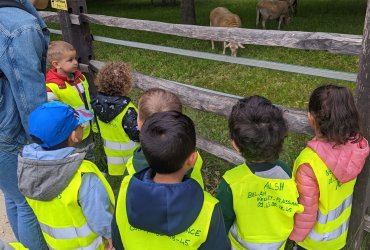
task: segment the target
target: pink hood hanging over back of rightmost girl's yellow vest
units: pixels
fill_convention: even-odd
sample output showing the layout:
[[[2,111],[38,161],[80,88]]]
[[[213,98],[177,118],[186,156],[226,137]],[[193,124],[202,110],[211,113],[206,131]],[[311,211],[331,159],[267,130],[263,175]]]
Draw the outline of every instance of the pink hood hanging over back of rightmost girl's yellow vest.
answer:
[[[319,155],[341,183],[357,177],[370,150],[366,139],[357,143],[347,142],[333,148],[333,143],[319,141],[315,137],[307,145]]]

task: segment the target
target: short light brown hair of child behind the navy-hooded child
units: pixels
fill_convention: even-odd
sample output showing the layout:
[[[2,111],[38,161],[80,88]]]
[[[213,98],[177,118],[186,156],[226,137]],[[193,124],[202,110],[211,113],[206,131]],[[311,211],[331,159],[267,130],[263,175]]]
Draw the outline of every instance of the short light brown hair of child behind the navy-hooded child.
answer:
[[[180,99],[175,94],[160,88],[145,91],[139,99],[138,107],[139,118],[142,122],[157,112],[177,111],[182,113]]]

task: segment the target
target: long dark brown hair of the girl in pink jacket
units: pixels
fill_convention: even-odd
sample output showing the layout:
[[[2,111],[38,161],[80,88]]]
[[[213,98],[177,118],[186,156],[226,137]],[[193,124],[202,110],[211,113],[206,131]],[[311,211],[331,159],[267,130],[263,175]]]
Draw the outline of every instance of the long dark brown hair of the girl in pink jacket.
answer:
[[[325,139],[345,144],[361,138],[358,111],[349,89],[334,85],[316,88],[311,94],[308,111]]]

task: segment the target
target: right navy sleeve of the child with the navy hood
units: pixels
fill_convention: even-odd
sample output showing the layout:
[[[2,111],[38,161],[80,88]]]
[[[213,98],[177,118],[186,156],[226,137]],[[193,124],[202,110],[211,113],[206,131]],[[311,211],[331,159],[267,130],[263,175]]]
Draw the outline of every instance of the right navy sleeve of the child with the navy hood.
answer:
[[[206,241],[199,250],[230,250],[231,244],[227,237],[220,204],[217,203],[212,214],[211,224]]]

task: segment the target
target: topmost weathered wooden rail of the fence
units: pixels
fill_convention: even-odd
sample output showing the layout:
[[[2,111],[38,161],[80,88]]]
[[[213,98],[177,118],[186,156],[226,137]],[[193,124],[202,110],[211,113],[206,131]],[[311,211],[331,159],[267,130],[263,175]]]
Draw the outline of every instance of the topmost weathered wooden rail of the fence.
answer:
[[[42,11],[40,14],[46,21],[58,22],[58,14],[55,12]],[[70,18],[72,24],[87,22],[203,40],[238,41],[242,44],[280,46],[304,50],[324,50],[337,54],[358,55],[361,52],[362,44],[362,36],[336,33],[211,28],[208,26],[170,24],[86,13],[82,13],[81,15],[70,14]]]

